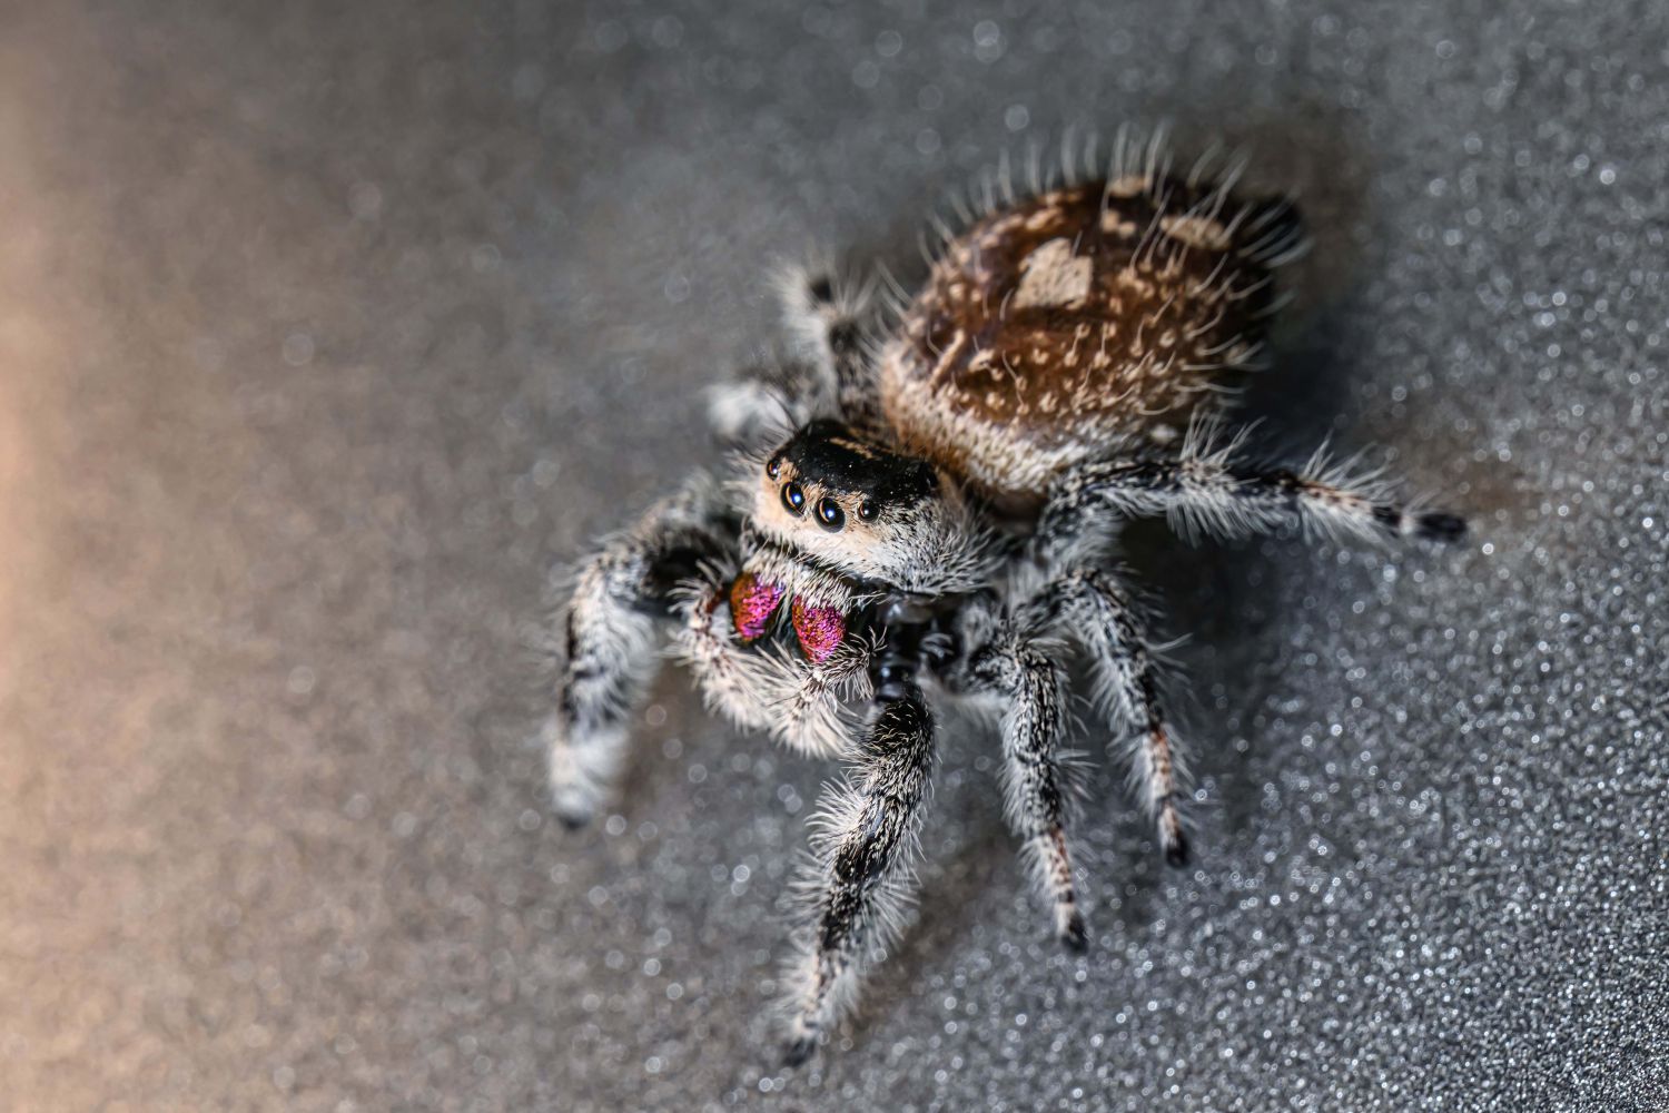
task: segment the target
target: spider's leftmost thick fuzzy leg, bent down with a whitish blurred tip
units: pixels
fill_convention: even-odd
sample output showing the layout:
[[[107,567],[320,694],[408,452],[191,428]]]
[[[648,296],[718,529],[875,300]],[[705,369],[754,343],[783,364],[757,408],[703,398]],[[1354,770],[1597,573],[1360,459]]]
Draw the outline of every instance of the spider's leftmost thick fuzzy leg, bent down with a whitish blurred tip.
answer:
[[[556,813],[582,826],[613,789],[626,719],[654,671],[656,619],[698,562],[731,544],[718,489],[698,476],[579,566],[562,614],[557,703],[541,728]]]

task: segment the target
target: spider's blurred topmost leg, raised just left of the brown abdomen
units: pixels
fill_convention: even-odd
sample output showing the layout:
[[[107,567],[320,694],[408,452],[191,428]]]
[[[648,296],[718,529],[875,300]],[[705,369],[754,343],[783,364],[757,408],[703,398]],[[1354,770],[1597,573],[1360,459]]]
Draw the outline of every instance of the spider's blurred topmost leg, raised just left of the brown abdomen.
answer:
[[[783,324],[789,337],[823,372],[829,397],[848,421],[875,415],[876,384],[871,359],[878,279],[851,277],[819,260],[783,267],[776,275]]]

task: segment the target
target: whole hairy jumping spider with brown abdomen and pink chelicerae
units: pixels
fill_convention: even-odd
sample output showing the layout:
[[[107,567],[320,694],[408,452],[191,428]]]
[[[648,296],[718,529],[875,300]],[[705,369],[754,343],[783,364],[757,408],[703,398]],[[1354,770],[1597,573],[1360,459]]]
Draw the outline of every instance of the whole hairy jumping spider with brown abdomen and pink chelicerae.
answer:
[[[1105,729],[1135,739],[1165,858],[1187,861],[1182,749],[1108,561],[1123,522],[1465,529],[1322,454],[1248,467],[1243,436],[1218,436],[1225,387],[1255,365],[1277,307],[1272,272],[1302,240],[1287,200],[1240,200],[1232,174],[1173,175],[1157,142],[1117,144],[1093,180],[1068,170],[1016,197],[1003,175],[996,194],[946,232],[890,315],[875,282],[791,275],[798,359],[713,395],[721,436],[753,449],[739,477],[698,477],[604,541],[566,609],[541,741],[567,823],[616,781],[668,619],[714,709],[850,763],[811,824],[789,1061],[848,1010],[896,931],[935,759],[930,691],[996,719],[1005,813],[1065,944],[1085,944],[1065,831],[1065,646],[1088,657]]]

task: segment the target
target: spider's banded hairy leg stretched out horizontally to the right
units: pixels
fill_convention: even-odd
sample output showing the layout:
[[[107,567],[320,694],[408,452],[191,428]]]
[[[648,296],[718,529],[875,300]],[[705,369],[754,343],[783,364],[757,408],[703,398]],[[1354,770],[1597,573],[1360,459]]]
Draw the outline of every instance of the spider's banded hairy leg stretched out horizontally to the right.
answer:
[[[1465,521],[1419,511],[1392,497],[1390,486],[1349,462],[1329,462],[1317,452],[1297,469],[1248,469],[1230,462],[1238,439],[1213,446],[1212,432],[1195,431],[1175,459],[1130,459],[1085,464],[1061,476],[1050,491],[1038,526],[1038,542],[1055,562],[1105,521],[1167,514],[1187,532],[1238,536],[1298,521],[1354,537],[1424,537],[1455,541]]]

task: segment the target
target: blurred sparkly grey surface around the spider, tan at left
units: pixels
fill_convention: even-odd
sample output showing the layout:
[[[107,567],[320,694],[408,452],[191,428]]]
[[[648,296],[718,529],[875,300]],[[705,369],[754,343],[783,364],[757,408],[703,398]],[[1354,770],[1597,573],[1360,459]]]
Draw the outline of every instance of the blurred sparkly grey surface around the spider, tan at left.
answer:
[[[1666,1108],[1666,42],[1661,3],[8,5],[0,1105]],[[1305,205],[1263,436],[1377,446],[1475,532],[1135,531],[1197,863],[1087,734],[1060,953],[951,734],[918,921],[784,1071],[829,769],[668,674],[559,829],[547,569],[716,459],[763,267],[920,274],[945,190],[1127,120]]]

